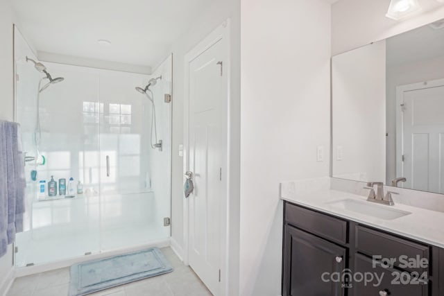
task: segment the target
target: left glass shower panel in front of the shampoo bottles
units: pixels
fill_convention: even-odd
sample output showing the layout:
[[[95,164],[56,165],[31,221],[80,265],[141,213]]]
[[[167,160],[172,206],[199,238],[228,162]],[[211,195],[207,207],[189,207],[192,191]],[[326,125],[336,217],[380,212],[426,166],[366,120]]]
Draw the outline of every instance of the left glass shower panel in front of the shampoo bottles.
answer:
[[[45,63],[65,80],[40,94],[42,73],[26,62],[32,56],[26,42],[15,33],[16,120],[21,124],[27,162],[24,232],[17,234],[15,265],[37,265],[99,252],[99,102],[98,77],[88,69]],[[76,91],[73,92],[72,90]],[[79,100],[81,98],[81,100]],[[36,151],[35,127],[40,112],[42,137]],[[45,157],[45,163],[42,163]],[[39,164],[40,163],[40,164]],[[33,180],[31,172],[37,171]],[[40,180],[67,181],[74,177],[91,189],[89,195],[64,198],[37,197]],[[95,194],[94,194],[95,192]]]

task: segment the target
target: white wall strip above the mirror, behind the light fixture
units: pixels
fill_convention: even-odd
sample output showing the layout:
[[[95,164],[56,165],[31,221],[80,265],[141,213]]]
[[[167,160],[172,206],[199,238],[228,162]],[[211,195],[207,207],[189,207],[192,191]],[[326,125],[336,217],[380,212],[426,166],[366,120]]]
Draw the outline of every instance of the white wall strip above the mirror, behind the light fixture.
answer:
[[[422,11],[407,19],[388,19],[388,0],[339,0],[332,5],[332,54],[404,33],[444,18],[444,5],[420,0]]]

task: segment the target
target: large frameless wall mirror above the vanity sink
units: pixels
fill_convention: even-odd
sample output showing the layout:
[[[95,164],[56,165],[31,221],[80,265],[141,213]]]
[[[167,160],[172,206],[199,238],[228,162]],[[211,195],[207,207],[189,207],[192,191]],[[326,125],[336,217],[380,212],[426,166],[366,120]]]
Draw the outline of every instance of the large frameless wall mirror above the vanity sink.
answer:
[[[332,177],[444,193],[444,20],[332,58]]]

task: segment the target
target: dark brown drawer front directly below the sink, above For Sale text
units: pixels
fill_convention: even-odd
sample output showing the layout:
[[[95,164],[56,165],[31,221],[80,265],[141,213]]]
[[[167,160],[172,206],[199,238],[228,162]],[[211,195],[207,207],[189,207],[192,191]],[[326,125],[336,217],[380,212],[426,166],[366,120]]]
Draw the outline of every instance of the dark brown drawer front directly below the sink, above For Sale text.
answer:
[[[356,248],[359,252],[367,254],[368,256],[382,256],[386,259],[395,259],[394,266],[398,266],[404,270],[425,272],[426,268],[416,268],[405,266],[405,261],[409,259],[427,259],[429,261],[429,247],[427,245],[420,245],[407,239],[399,238],[378,232],[362,226],[356,227]],[[400,261],[400,256],[403,261]],[[430,264],[430,262],[429,262]],[[404,265],[404,266],[400,266]]]

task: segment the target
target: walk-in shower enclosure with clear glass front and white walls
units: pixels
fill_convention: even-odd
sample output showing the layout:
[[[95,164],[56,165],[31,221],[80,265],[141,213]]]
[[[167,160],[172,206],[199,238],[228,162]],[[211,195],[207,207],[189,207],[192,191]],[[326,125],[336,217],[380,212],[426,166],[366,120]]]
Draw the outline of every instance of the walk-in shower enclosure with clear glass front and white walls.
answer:
[[[16,121],[27,157],[24,232],[15,265],[23,267],[167,241],[171,208],[171,57],[152,76],[43,62],[65,78],[40,94],[37,60],[15,31]],[[151,148],[153,103],[135,91],[150,78],[162,150]],[[38,111],[38,112],[37,112]],[[40,145],[35,147],[37,114]],[[33,171],[37,171],[35,181]],[[34,173],[35,174],[35,173]],[[74,198],[38,197],[40,180],[74,178]],[[58,184],[59,185],[59,184]]]

